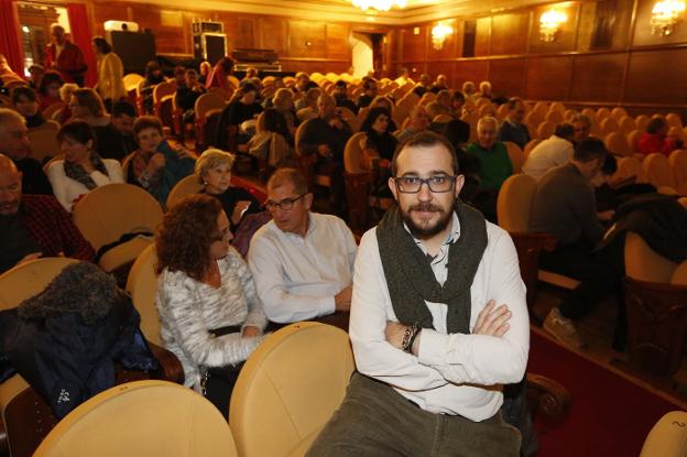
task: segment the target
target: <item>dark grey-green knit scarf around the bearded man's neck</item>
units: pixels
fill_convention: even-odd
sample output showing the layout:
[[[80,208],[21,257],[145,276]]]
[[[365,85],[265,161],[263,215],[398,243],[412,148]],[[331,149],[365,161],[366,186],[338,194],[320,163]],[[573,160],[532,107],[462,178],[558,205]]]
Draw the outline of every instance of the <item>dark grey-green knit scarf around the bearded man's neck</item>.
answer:
[[[419,323],[434,328],[425,301],[448,306],[448,333],[470,333],[470,286],[487,248],[484,217],[456,202],[460,237],[448,250],[448,276],[444,286],[435,279],[427,257],[405,230],[397,206],[391,208],[377,228],[380,257],[389,295],[399,322]]]

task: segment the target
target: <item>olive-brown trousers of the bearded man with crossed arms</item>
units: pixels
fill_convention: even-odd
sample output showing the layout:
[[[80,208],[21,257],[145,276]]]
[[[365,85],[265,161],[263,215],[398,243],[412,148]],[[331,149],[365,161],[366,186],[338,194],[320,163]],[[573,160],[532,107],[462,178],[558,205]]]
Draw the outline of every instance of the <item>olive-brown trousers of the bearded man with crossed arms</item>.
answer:
[[[306,454],[337,456],[517,456],[520,432],[498,412],[473,422],[433,414],[385,383],[353,373],[346,398]]]

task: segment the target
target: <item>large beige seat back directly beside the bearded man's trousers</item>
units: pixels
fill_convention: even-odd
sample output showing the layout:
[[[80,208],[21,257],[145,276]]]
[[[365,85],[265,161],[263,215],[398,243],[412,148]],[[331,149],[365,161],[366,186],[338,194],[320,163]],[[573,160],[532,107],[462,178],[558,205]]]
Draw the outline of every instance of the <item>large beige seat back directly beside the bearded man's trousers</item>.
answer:
[[[243,457],[281,457],[314,440],[344,399],[353,371],[348,335],[298,323],[266,338],[231,395],[229,424]]]

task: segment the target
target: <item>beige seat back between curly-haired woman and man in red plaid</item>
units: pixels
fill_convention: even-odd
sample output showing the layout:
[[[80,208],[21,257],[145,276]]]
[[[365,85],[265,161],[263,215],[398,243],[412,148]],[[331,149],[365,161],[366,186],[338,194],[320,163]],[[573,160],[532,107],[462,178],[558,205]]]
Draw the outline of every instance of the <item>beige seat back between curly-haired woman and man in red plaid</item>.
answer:
[[[162,207],[131,184],[108,184],[89,192],[74,208],[74,222],[95,250],[138,230],[155,231]]]

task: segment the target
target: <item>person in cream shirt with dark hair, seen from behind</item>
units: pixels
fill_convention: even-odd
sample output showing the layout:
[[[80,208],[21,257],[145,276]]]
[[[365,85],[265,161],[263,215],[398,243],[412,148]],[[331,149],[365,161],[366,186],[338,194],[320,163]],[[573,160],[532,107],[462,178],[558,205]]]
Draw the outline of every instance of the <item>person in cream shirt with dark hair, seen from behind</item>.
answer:
[[[569,123],[556,127],[553,135],[538,143],[527,155],[522,171],[535,179],[556,166],[565,165],[572,159],[575,128]]]

